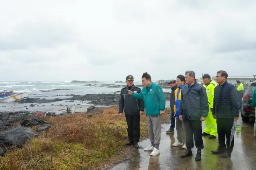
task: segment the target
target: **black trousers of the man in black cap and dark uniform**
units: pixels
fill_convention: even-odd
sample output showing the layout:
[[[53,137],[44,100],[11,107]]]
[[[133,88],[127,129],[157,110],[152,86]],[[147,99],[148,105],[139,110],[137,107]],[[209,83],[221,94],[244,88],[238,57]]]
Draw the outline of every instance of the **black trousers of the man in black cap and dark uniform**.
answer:
[[[140,114],[125,115],[127,122],[128,140],[139,142],[140,140]]]

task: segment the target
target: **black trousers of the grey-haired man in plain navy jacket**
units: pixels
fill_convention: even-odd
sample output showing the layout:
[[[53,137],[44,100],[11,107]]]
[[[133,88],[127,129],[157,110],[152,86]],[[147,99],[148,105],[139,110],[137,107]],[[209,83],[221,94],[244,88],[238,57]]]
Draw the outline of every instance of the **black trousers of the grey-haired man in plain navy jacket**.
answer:
[[[194,140],[197,149],[203,149],[202,122],[201,120],[183,119],[186,129],[186,147],[193,148]]]

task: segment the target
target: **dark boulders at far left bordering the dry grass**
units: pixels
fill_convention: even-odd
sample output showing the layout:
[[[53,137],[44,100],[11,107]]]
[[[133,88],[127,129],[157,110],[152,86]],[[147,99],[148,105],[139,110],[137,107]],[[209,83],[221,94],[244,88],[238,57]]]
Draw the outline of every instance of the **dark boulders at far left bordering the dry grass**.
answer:
[[[90,118],[95,111],[99,109],[95,106],[88,108],[87,117]],[[45,131],[52,125],[43,121],[44,116],[65,116],[67,112],[0,112],[0,156],[4,155],[7,148],[19,147],[34,136],[38,136],[39,132]],[[35,132],[29,127],[37,126]]]

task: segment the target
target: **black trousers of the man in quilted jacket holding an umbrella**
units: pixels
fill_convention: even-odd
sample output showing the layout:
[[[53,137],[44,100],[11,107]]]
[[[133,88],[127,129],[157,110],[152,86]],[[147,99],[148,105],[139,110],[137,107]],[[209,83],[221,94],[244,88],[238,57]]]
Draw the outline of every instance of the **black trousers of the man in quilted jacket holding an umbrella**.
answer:
[[[231,129],[233,126],[233,122],[234,122],[234,118],[230,118],[230,119],[217,118],[219,148],[226,149],[230,154],[233,151],[234,138],[235,138],[235,137],[233,137],[233,140],[231,141],[231,145],[230,145],[230,136],[231,136]],[[226,139],[227,139],[227,142],[225,144]]]

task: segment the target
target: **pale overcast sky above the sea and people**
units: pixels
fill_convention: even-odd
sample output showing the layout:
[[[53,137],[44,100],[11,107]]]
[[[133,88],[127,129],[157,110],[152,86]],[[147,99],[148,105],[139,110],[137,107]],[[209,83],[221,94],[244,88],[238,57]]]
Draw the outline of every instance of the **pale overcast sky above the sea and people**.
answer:
[[[256,75],[256,1],[0,1],[0,82]]]

